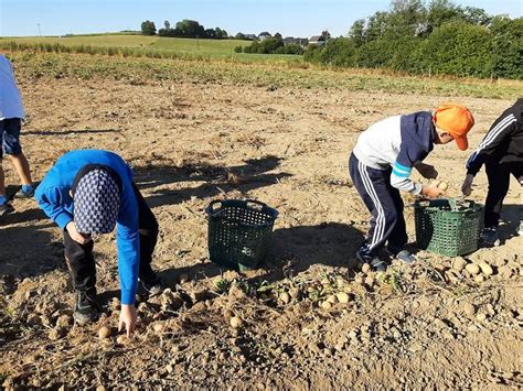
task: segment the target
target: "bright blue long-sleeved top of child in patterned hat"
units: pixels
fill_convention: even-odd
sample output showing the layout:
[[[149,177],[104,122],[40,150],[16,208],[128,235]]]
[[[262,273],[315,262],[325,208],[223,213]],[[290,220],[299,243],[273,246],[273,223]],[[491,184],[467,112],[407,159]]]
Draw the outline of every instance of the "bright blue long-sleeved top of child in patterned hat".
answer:
[[[78,171],[87,164],[102,164],[113,169],[121,178],[120,210],[116,222],[118,271],[121,304],[134,304],[140,263],[138,231],[138,203],[132,188],[132,171],[116,153],[100,150],[76,150],[64,154],[49,171],[35,192],[43,211],[60,228],[74,219],[74,200],[70,191]]]

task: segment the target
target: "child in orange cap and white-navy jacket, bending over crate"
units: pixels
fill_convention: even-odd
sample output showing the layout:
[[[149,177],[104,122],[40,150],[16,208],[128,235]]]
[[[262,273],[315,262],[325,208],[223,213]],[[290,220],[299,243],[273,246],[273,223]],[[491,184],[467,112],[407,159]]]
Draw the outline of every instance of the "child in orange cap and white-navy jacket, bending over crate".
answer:
[[[467,150],[467,133],[474,123],[465,106],[444,104],[433,113],[419,111],[384,119],[365,130],[352,151],[349,166],[352,182],[372,214],[371,230],[356,252],[356,259],[373,270],[383,271],[387,264],[380,258],[386,246],[392,257],[404,262],[415,261],[405,249],[407,231],[399,191],[436,198],[441,189],[423,186],[409,176],[416,169],[426,178],[436,178],[434,166],[421,163],[434,144],[455,140]]]

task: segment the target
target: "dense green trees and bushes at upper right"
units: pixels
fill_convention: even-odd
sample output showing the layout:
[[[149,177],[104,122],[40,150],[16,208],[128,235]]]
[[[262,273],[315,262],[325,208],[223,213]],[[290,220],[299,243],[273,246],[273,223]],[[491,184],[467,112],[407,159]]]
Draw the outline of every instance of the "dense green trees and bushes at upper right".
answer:
[[[450,0],[394,0],[355,21],[348,37],[310,46],[305,59],[421,75],[523,78],[523,18],[489,15]]]

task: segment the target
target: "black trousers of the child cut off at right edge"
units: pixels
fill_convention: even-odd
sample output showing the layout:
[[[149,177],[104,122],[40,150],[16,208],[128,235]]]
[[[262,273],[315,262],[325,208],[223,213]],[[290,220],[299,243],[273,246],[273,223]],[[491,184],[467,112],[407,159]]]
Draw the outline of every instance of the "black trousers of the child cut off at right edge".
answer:
[[[523,185],[523,162],[512,164],[487,163],[485,171],[489,180],[489,193],[484,203],[484,226],[498,227],[503,199],[505,199],[509,192],[510,175],[514,175]]]

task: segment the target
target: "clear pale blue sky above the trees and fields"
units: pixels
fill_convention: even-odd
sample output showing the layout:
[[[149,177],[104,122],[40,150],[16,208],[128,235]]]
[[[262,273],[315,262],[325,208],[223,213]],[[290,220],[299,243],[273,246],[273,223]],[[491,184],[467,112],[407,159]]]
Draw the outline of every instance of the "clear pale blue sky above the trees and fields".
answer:
[[[64,35],[157,29],[192,19],[230,34],[268,31],[309,37],[345,35],[352,23],[388,9],[389,0],[0,0],[0,36]],[[523,0],[456,0],[489,14],[523,14]]]

